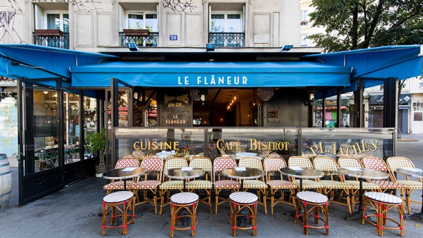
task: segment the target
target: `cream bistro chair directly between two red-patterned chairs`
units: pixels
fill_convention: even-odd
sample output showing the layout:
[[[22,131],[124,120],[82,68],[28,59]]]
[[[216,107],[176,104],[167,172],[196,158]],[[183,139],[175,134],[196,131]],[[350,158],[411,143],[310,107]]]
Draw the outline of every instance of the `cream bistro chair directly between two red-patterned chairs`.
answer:
[[[252,167],[257,170],[261,170],[263,172],[263,165],[261,164],[261,160],[257,157],[242,157],[239,159],[238,162],[239,167]],[[257,196],[259,197],[259,204],[263,205],[265,208],[265,214],[267,214],[267,199],[266,199],[266,190],[267,190],[267,183],[265,183],[265,176],[261,176],[261,178],[256,179],[245,179],[244,183],[244,191],[247,192],[248,190],[256,190]],[[260,193],[263,194],[263,200],[261,200]]]

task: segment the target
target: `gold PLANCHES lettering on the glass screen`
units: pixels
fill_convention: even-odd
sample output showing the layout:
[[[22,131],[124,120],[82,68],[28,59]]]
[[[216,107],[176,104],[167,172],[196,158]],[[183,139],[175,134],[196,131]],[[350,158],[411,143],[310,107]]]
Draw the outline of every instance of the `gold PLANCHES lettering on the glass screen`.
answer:
[[[377,144],[379,140],[361,140],[358,143],[348,145],[348,146],[339,146],[337,147],[337,143],[330,145],[329,149],[323,149],[323,144],[318,143],[317,145],[312,145],[309,147],[310,151],[313,153],[314,156],[321,153],[330,153],[341,156],[348,156],[348,155],[358,155],[364,152],[375,152],[377,151]],[[327,147],[327,145],[326,145]]]

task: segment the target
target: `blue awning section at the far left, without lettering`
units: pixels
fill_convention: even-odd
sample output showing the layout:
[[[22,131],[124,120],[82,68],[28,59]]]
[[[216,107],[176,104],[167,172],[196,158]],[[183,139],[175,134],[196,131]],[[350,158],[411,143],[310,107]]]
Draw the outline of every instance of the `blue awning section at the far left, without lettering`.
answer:
[[[96,64],[114,55],[71,51],[33,44],[0,44],[0,75],[17,79],[71,78],[70,66]]]

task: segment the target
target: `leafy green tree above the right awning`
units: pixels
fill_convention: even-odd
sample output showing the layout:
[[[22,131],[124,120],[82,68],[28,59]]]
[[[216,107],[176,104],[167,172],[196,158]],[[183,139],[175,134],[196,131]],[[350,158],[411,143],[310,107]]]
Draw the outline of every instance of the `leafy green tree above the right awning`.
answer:
[[[375,46],[422,44],[422,0],[313,0],[310,35],[326,52]]]

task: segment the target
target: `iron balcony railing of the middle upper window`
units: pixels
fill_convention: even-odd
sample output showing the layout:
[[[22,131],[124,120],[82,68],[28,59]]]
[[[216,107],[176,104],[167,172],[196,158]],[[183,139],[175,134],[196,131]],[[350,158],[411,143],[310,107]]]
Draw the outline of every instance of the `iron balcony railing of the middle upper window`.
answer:
[[[119,33],[120,46],[125,47],[125,43],[134,42],[138,47],[157,47],[158,33],[144,29],[124,29]]]

